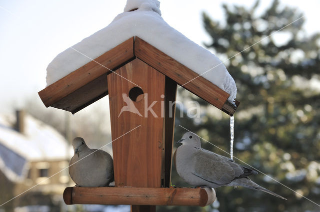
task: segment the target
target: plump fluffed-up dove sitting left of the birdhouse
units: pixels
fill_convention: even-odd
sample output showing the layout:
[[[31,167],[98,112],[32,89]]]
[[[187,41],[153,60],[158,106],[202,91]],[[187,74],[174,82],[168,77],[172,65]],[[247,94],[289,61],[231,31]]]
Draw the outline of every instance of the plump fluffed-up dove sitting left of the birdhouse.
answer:
[[[102,150],[90,149],[83,138],[72,141],[74,155],[69,163],[71,179],[81,187],[103,187],[114,181],[113,160]]]

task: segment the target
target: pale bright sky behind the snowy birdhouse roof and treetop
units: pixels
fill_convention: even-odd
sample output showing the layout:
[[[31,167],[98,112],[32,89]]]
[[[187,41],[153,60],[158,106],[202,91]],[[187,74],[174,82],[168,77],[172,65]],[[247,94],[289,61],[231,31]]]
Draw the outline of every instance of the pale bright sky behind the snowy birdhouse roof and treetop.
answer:
[[[222,3],[252,6],[255,0],[160,0],[163,19],[192,41],[209,41],[201,12],[222,20]],[[320,31],[318,0],[280,0],[305,15],[308,34]],[[126,0],[0,0],[0,113],[40,101],[46,66],[60,52],[107,26]],[[258,12],[270,0],[261,0]]]

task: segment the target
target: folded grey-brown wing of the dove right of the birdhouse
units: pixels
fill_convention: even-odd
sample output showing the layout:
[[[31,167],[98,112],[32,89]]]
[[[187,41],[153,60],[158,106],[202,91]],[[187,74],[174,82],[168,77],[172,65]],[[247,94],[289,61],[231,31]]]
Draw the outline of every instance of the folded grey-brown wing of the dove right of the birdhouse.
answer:
[[[233,160],[213,152],[198,149],[193,154],[194,175],[216,185],[226,185],[232,180],[256,174]]]

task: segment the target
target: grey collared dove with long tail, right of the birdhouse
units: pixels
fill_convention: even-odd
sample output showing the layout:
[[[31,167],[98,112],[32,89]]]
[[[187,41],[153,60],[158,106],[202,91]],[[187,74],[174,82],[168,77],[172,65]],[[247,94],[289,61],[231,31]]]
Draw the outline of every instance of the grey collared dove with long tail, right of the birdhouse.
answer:
[[[176,172],[188,184],[211,188],[243,186],[286,200],[252,182],[248,176],[258,174],[256,171],[236,164],[227,157],[202,149],[196,134],[185,133],[177,143],[182,145],[174,153]]]

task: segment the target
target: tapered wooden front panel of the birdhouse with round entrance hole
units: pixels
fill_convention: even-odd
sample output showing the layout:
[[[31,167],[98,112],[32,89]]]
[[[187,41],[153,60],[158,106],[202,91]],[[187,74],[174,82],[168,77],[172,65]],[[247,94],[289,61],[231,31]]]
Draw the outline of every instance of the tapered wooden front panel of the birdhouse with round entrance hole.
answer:
[[[160,187],[163,148],[161,101],[165,76],[139,59],[132,60],[115,72],[118,75],[111,73],[107,76],[115,186]],[[124,100],[129,102],[133,111],[126,96],[136,85],[128,80],[143,90],[144,96],[133,102],[141,116],[129,111],[120,114],[123,107],[128,109]],[[145,105],[147,108],[154,101],[152,110],[157,117],[150,111],[146,114],[144,111]]]

